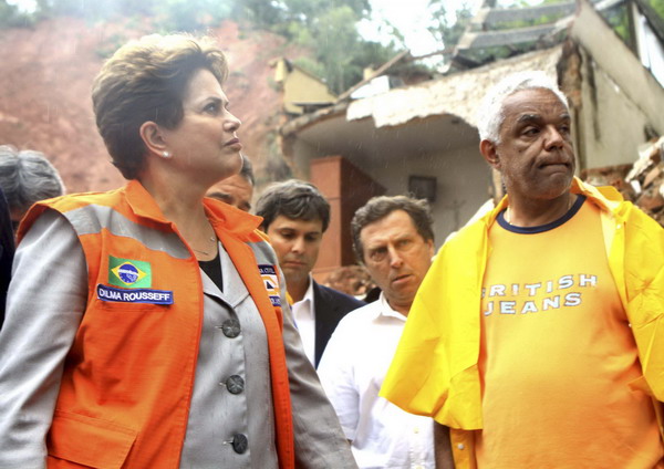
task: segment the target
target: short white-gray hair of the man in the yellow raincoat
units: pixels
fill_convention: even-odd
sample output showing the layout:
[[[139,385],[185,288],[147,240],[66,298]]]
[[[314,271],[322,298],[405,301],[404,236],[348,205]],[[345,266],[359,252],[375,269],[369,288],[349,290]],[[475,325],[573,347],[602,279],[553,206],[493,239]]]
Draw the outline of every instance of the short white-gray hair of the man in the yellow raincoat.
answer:
[[[480,140],[500,143],[500,127],[505,121],[505,100],[518,91],[544,88],[553,92],[562,104],[569,110],[566,95],[558,87],[558,83],[541,71],[517,72],[502,79],[485,95],[477,112],[477,129]]]

